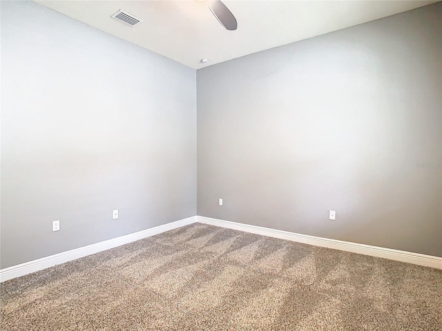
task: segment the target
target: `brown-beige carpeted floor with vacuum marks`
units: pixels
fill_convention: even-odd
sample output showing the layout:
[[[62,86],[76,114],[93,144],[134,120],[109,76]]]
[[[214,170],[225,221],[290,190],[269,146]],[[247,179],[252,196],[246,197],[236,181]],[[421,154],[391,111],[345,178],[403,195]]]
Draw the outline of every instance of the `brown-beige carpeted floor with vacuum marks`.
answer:
[[[1,283],[0,330],[442,330],[442,270],[194,223]]]

